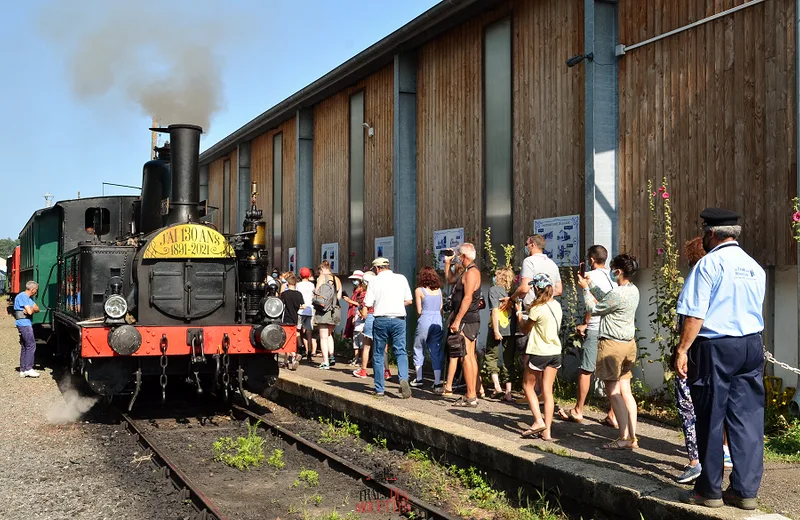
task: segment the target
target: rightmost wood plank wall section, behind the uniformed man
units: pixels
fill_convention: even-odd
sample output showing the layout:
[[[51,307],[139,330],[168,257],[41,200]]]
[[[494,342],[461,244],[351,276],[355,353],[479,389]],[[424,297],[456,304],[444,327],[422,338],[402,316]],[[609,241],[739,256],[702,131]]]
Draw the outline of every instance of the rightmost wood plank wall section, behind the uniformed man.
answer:
[[[638,43],[742,3],[621,0],[620,41]],[[770,0],[620,60],[620,242],[644,265],[654,252],[643,184],[663,174],[679,245],[700,233],[699,211],[721,206],[744,215],[742,244],[760,262],[796,261],[787,220],[796,163],[793,19],[792,0]]]

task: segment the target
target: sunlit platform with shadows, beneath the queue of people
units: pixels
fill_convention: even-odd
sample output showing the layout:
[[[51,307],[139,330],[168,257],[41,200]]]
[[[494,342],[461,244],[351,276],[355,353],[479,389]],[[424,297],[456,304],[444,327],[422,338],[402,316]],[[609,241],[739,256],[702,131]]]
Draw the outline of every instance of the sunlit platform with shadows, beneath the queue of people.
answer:
[[[477,465],[486,467],[492,464],[487,461],[492,461],[506,474],[519,467],[530,480],[543,479],[548,487],[555,484],[567,496],[575,493],[586,499],[588,494],[588,500],[595,501],[600,509],[635,498],[640,510],[651,512],[650,516],[645,514],[648,520],[662,513],[673,518],[764,518],[762,515],[774,514],[777,516],[768,518],[786,515],[800,519],[798,464],[766,463],[760,511],[686,506],[679,503],[678,496],[689,487],[674,482],[687,464],[678,428],[642,419],[637,432],[639,450],[602,450],[600,446],[615,439],[617,431],[601,423],[602,412],[587,409],[580,424],[554,419],[555,442],[522,439],[520,434],[532,422],[527,405],[482,399],[477,408],[454,407],[455,398],[434,394],[431,381],[426,381],[422,389],[412,389],[411,399],[401,399],[394,370],[386,384],[386,397],[378,399],[370,395],[372,370],[368,370],[368,379],[359,379],[352,375],[354,368],[338,363],[331,370],[319,370],[316,364],[303,364],[296,372],[282,370],[278,387],[354,417],[380,420],[382,426]],[[456,393],[458,397],[458,390]],[[556,408],[559,404],[569,407],[574,402],[557,403]],[[728,475],[726,471],[723,488],[727,487]],[[580,487],[585,489],[578,491]]]

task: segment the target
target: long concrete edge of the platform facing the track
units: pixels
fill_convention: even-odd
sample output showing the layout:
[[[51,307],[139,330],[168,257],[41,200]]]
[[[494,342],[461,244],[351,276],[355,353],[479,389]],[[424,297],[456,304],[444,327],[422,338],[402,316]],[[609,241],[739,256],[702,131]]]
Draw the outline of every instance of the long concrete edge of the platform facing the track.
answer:
[[[346,413],[356,421],[378,424],[380,429],[418,440],[478,467],[485,467],[486,461],[491,460],[495,470],[510,478],[538,489],[557,489],[562,503],[574,500],[615,518],[745,519],[760,514],[729,507],[688,506],[678,502],[677,487],[599,466],[576,456],[547,453],[523,443],[494,446],[476,438],[473,429],[395,405],[390,397],[376,399],[363,392],[285,372],[281,374],[276,389],[290,400],[311,401],[332,411]]]

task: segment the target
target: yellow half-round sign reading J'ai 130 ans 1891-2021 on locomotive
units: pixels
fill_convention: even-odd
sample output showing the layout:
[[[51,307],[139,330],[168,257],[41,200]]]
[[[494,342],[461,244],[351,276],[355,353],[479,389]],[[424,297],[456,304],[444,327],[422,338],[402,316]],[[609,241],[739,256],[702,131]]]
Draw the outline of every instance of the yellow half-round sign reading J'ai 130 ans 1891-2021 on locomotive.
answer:
[[[147,244],[144,258],[232,258],[221,233],[200,224],[179,224],[160,231]]]

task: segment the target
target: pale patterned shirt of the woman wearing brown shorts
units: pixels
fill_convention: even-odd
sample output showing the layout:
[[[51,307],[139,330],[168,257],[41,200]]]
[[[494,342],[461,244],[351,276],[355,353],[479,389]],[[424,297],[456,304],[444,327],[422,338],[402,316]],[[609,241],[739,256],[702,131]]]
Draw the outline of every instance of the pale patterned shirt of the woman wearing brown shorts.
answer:
[[[586,299],[586,310],[600,316],[600,338],[632,341],[636,338],[636,309],[639,289],[629,283],[605,292],[590,282],[592,296]]]

